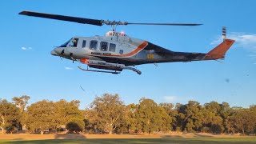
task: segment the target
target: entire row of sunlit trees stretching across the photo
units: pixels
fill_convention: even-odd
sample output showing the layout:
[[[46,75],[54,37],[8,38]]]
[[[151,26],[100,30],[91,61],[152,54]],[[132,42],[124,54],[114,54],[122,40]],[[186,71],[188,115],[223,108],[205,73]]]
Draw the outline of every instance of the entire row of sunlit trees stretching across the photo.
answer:
[[[86,134],[158,134],[178,131],[211,134],[256,134],[256,105],[249,108],[230,107],[227,102],[196,101],[186,104],[141,98],[138,104],[125,105],[118,94],[95,97],[86,110],[80,102],[42,100],[27,106],[30,96],[0,100],[0,129],[2,133],[26,130]]]

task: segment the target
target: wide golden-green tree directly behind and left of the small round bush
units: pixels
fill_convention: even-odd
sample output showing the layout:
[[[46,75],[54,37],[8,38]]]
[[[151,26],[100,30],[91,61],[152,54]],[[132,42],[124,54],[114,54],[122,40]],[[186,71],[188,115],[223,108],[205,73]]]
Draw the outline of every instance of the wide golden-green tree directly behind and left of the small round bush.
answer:
[[[40,130],[41,134],[43,130],[56,131],[58,126],[66,126],[70,118],[84,118],[78,106],[79,101],[66,102],[63,99],[58,102],[46,100],[35,102],[27,107],[22,124],[26,124],[32,132]]]

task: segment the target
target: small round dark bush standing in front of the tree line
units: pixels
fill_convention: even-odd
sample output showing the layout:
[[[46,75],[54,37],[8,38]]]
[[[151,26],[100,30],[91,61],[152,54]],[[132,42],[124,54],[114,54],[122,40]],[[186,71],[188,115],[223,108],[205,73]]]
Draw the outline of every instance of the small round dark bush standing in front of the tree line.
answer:
[[[79,133],[85,128],[85,122],[81,118],[70,118],[70,121],[66,123],[66,129],[70,132]]]

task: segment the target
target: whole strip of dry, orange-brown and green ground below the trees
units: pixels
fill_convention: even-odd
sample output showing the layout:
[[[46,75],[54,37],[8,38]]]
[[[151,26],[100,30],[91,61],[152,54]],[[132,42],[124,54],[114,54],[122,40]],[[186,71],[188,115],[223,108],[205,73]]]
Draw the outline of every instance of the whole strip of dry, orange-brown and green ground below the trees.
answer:
[[[256,137],[222,134],[0,134],[0,143],[256,143]]]

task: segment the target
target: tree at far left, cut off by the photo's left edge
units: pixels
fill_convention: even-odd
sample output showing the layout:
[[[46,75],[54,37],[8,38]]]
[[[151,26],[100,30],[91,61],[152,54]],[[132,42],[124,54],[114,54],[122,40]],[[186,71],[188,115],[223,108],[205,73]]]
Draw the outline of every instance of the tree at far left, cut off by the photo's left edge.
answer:
[[[5,129],[12,132],[14,128],[17,128],[21,117],[21,112],[14,104],[0,99],[0,127],[2,134]]]

